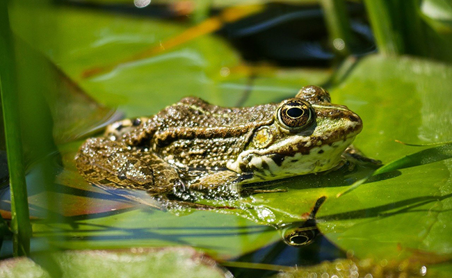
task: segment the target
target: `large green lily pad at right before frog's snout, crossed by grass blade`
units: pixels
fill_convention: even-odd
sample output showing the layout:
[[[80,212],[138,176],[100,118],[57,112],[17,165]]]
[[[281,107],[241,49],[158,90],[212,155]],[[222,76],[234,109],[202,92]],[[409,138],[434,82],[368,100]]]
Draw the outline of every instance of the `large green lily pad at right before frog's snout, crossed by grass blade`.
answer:
[[[414,58],[364,58],[333,99],[364,122],[355,144],[371,157],[394,161],[419,151],[403,142],[452,138],[452,67]],[[327,199],[318,227],[358,257],[401,259],[416,250],[452,253],[452,161],[409,167]]]

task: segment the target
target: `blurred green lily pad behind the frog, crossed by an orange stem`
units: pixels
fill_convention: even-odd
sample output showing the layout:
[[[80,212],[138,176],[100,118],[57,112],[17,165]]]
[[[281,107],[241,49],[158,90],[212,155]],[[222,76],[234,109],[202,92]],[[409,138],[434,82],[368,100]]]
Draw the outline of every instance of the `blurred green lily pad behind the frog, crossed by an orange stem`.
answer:
[[[26,7],[13,10],[15,32],[40,49],[67,76],[99,103],[118,107],[127,117],[152,115],[182,97],[195,95],[213,104],[235,106],[250,89],[259,95],[245,104],[268,102],[295,95],[309,83],[323,83],[330,76],[324,70],[283,71],[273,67],[253,69],[241,64],[236,51],[225,40],[204,35],[160,54],[120,63],[113,70],[90,79],[83,72],[131,58],[141,51],[159,46],[190,26],[168,24],[152,19],[118,17],[91,10],[54,8],[42,10],[58,28],[33,34],[21,24]],[[89,28],[86,28],[89,26]],[[254,72],[253,72],[254,73]],[[255,94],[254,94],[255,93]],[[261,103],[261,102],[260,102]]]

